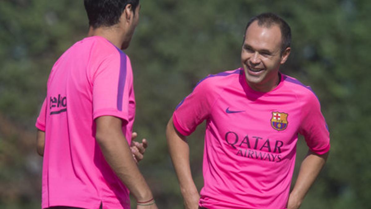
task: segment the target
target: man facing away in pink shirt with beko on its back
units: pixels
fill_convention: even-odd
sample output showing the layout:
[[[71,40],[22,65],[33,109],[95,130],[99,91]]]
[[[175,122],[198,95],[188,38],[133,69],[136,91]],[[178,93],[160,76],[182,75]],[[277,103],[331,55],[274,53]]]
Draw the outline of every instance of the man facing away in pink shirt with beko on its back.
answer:
[[[137,26],[139,0],[84,4],[89,37],[55,62],[36,121],[42,208],[129,209],[130,191],[138,209],[157,209],[135,163],[147,142],[132,142],[133,75],[121,51]]]

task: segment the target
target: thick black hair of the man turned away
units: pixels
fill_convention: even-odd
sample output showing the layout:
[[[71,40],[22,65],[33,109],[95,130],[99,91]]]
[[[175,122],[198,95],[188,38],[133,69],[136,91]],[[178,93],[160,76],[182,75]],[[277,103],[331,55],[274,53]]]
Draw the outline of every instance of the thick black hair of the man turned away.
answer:
[[[117,24],[128,4],[135,12],[139,0],[84,0],[89,26],[99,28]]]

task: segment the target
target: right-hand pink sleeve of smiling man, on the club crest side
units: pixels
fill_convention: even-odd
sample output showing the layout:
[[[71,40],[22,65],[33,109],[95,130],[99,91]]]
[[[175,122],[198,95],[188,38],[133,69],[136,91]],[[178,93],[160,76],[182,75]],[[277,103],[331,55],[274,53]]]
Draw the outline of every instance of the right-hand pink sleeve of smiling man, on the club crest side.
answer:
[[[305,100],[299,134],[304,136],[311,151],[325,154],[330,149],[330,137],[328,126],[321,113],[321,105],[315,94],[311,94]]]

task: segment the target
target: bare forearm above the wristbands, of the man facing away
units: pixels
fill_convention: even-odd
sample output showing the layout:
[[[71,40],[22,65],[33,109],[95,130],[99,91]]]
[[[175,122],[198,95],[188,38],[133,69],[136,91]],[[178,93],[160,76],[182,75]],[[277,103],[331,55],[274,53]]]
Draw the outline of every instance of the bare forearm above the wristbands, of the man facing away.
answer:
[[[119,120],[119,124],[117,124],[118,121],[114,119],[115,122],[113,122],[114,124],[112,125],[112,121],[109,123],[102,121],[107,119],[104,117],[112,116],[102,116],[96,120],[96,140],[101,147],[105,160],[121,181],[128,187],[130,192],[132,192],[137,201],[147,201],[151,199],[152,193],[150,188],[139,172],[127,140],[122,134],[121,119],[115,118]],[[108,118],[108,120],[112,118]],[[115,128],[112,129],[113,127]]]

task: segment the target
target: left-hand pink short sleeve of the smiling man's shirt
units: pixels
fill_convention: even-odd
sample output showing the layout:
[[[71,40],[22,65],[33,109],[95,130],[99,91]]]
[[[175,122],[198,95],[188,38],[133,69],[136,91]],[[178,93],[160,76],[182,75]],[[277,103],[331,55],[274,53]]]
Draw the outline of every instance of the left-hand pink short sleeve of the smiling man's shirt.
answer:
[[[209,117],[214,100],[211,79],[201,80],[174,111],[173,123],[177,131],[184,136],[190,135]]]

